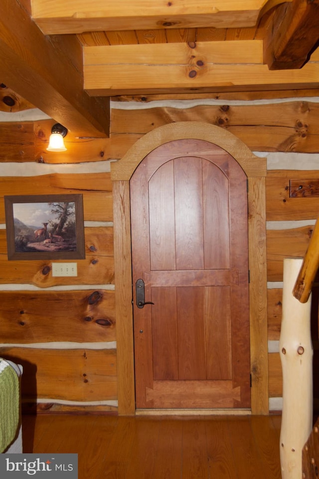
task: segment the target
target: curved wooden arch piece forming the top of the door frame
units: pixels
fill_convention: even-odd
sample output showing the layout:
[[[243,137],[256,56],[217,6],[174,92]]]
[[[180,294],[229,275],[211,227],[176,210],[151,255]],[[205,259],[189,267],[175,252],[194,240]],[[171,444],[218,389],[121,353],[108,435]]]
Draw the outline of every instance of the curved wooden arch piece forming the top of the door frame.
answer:
[[[198,121],[168,123],[145,134],[124,157],[111,163],[112,181],[129,181],[135,169],[151,151],[174,140],[203,140],[227,151],[240,164],[248,178],[265,177],[266,158],[259,158],[239,138],[216,125]]]

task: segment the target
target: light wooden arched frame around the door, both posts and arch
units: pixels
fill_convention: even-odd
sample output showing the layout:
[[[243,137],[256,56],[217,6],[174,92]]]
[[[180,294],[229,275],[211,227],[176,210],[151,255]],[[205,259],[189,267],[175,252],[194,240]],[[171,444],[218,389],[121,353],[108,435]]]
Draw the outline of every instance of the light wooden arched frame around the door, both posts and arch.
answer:
[[[113,182],[115,301],[119,415],[135,415],[134,338],[130,179],[155,148],[173,140],[204,140],[232,155],[248,178],[249,317],[251,412],[268,414],[266,159],[255,156],[232,133],[202,122],[176,122],[140,138],[118,162],[111,164]]]

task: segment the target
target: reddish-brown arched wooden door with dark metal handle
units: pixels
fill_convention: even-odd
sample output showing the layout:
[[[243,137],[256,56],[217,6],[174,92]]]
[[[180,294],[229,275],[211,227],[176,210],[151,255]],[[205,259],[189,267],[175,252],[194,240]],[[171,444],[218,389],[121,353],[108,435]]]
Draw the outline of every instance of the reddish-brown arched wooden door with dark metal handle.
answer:
[[[249,408],[244,171],[210,142],[170,141],[130,195],[136,407]]]

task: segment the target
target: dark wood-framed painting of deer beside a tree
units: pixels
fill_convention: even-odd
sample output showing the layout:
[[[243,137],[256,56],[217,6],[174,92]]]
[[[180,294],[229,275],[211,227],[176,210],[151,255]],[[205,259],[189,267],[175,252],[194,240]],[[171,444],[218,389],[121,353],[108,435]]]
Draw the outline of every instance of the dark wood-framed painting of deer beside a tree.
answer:
[[[15,218],[21,204],[28,218],[46,208],[45,221],[35,224],[26,217]],[[4,209],[9,260],[85,258],[82,195],[4,196]]]

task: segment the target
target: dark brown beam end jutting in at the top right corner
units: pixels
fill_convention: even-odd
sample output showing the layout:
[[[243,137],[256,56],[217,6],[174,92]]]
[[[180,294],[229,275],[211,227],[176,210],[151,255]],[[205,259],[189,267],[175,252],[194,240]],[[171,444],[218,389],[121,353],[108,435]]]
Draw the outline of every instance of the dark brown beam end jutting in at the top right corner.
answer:
[[[319,41],[319,0],[294,0],[272,15],[264,38],[270,70],[301,68]]]

